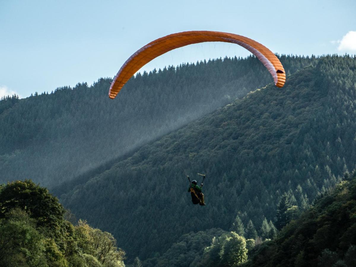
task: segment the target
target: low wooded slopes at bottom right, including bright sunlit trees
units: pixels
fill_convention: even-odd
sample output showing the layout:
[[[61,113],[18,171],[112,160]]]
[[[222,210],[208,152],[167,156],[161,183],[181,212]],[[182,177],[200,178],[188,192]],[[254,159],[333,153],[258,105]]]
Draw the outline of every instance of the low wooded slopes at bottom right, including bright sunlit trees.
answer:
[[[272,240],[263,235],[271,231],[267,224],[262,224],[261,236],[254,239],[247,239],[248,229],[244,231],[242,225],[230,229],[231,232],[219,229],[190,232],[163,255],[144,261],[143,266],[354,267],[356,169],[344,179],[319,193],[313,205],[296,218],[289,218],[281,231],[274,232]],[[290,215],[293,209],[292,206],[286,213]],[[208,240],[211,235],[214,237]]]

